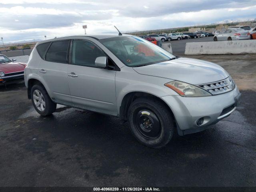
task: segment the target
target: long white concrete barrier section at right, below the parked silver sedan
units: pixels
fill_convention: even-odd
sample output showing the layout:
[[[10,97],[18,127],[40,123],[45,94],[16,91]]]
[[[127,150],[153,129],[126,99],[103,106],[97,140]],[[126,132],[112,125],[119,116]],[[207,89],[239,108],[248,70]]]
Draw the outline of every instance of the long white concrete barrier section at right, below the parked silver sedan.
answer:
[[[186,43],[185,55],[256,54],[256,40]]]

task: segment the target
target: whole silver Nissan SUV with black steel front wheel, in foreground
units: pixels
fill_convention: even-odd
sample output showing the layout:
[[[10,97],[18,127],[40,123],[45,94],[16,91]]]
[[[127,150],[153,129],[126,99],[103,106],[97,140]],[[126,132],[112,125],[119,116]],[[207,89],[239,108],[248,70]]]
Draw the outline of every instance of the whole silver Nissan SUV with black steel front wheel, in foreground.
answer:
[[[217,64],[180,58],[130,35],[70,36],[36,44],[28,98],[47,116],[62,104],[118,116],[142,144],[166,145],[230,115],[239,90]]]

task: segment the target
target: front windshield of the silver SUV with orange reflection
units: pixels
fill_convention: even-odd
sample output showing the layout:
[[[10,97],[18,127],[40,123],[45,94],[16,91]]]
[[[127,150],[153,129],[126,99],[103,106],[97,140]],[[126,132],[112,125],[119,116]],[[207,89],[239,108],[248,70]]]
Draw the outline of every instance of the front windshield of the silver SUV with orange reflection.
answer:
[[[116,37],[99,40],[128,67],[139,67],[176,58],[166,50],[139,37]]]

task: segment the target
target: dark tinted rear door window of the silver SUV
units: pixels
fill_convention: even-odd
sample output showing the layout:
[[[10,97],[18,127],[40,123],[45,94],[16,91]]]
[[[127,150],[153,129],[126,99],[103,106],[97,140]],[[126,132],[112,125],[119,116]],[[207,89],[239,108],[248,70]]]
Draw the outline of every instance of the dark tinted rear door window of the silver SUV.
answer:
[[[70,40],[54,41],[46,53],[46,61],[68,63],[68,47]]]

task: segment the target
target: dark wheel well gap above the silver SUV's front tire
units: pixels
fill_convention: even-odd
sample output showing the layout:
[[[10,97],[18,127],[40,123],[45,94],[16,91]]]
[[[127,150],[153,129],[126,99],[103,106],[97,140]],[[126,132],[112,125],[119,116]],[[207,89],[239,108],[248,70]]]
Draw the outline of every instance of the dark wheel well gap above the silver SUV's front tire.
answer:
[[[127,112],[128,112],[129,107],[130,107],[130,104],[134,100],[136,100],[137,98],[140,98],[140,97],[153,98],[155,100],[158,100],[158,101],[162,102],[162,104],[164,104],[170,110],[172,116],[174,117],[170,107],[166,104],[166,102],[164,102],[159,97],[154,96],[154,95],[149,94],[149,93],[145,93],[145,92],[131,92],[131,93],[128,93],[124,96],[124,98],[122,100],[122,103],[121,103],[121,106],[120,106],[120,112],[119,113],[120,113],[120,118],[122,120],[127,121]],[[174,118],[174,120],[175,120],[175,118]]]

